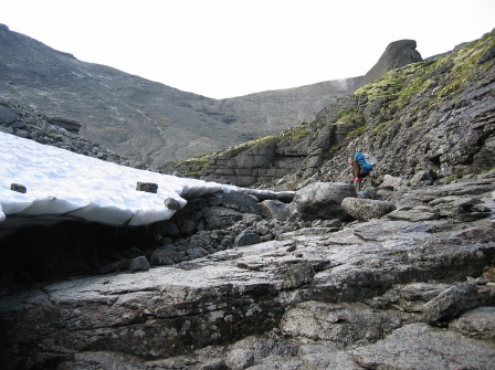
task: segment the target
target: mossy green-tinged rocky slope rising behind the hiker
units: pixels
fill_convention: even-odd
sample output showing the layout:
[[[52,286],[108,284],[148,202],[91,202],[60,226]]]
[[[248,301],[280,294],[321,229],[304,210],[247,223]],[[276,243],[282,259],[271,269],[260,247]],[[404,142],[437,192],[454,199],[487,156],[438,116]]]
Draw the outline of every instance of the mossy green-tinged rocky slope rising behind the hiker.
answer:
[[[297,189],[347,181],[356,150],[385,175],[449,182],[494,168],[495,34],[387,73],[281,135],[182,162],[191,176]]]

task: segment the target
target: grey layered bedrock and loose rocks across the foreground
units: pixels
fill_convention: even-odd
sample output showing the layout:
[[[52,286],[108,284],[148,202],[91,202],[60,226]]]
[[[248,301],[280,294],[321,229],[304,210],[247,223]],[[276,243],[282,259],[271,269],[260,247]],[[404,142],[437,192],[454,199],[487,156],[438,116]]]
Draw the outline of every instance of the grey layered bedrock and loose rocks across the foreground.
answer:
[[[495,179],[393,180],[190,201],[154,267],[2,295],[1,368],[494,369]]]

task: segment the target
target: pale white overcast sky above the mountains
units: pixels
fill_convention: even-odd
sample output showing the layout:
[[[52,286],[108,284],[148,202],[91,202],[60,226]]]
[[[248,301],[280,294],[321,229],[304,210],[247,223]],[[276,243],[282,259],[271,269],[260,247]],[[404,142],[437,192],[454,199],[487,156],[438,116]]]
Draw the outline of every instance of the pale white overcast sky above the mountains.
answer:
[[[364,75],[397,40],[423,57],[452,50],[495,28],[495,0],[0,0],[0,23],[224,98]]]

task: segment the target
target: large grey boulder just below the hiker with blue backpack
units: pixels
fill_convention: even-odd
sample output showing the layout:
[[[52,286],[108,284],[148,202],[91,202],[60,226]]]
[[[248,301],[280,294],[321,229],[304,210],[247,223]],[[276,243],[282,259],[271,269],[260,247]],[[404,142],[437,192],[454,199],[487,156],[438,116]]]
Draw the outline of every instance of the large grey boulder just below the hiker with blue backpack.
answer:
[[[284,215],[287,220],[348,220],[350,215],[340,204],[344,199],[356,195],[351,183],[315,182],[296,192]]]

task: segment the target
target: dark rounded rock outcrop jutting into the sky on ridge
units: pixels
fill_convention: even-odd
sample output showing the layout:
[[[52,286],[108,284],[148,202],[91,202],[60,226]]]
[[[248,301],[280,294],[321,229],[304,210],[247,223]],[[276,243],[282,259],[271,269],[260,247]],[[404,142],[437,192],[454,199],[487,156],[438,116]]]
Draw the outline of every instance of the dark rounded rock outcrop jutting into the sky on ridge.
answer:
[[[377,64],[375,64],[362,77],[362,85],[377,81],[391,70],[421,62],[423,59],[415,47],[417,42],[414,40],[399,40],[391,42],[378,60]]]

